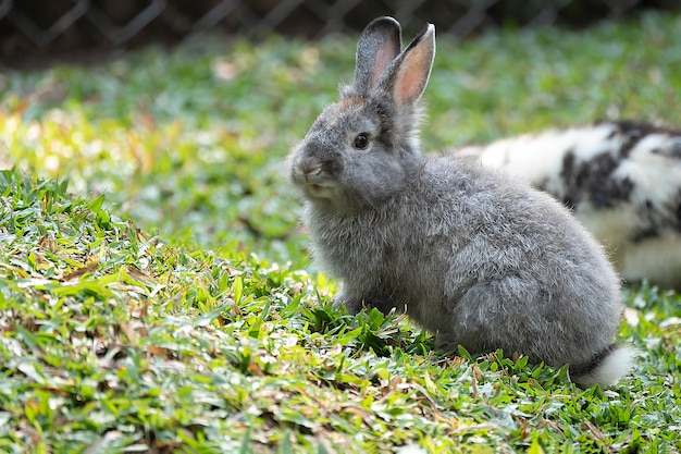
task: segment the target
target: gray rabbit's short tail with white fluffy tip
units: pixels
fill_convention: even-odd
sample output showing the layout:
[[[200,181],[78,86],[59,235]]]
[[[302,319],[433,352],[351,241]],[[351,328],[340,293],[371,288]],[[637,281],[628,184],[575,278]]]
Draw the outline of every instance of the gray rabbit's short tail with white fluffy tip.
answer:
[[[631,370],[635,356],[636,352],[632,348],[610,345],[594,356],[591,363],[570,367],[572,380],[582,388],[594,384],[610,386]]]

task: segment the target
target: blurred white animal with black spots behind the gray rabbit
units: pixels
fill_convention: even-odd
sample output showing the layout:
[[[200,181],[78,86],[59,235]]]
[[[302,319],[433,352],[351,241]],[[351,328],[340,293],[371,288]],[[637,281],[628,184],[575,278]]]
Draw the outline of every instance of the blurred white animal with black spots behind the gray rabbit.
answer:
[[[681,130],[606,121],[455,154],[479,157],[566,204],[627,281],[681,290]]]

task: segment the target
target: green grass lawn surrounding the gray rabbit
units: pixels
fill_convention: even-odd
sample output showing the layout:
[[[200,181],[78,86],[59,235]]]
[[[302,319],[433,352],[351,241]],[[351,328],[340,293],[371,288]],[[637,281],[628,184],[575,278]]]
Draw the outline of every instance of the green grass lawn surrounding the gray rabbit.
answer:
[[[0,452],[681,450],[672,292],[623,292],[645,355],[607,391],[332,308],[282,161],[355,39],[201,37],[0,74]],[[439,36],[424,142],[681,124],[680,41],[671,14]]]

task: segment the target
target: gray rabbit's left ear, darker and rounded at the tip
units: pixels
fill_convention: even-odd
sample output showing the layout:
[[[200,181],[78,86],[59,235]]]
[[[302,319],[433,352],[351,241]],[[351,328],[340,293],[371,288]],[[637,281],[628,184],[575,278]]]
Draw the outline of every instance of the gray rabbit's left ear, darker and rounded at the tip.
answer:
[[[400,49],[401,30],[393,17],[379,17],[367,25],[357,44],[356,87],[373,87]]]

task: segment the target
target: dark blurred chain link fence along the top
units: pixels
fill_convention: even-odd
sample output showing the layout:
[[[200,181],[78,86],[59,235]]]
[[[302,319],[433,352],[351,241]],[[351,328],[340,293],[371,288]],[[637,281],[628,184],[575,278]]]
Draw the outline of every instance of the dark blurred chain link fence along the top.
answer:
[[[253,39],[272,32],[318,38],[389,14],[413,32],[433,22],[466,37],[499,25],[584,26],[680,0],[0,0],[0,61],[176,41],[220,29]]]

